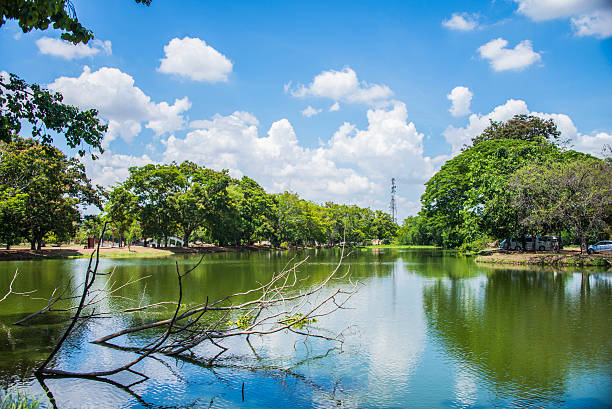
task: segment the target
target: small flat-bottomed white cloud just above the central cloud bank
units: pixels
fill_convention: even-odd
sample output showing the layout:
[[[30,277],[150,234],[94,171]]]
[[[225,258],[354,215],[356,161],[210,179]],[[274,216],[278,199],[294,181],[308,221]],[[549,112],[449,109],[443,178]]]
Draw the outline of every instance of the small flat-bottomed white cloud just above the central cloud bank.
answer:
[[[290,87],[289,83],[285,89],[294,97],[330,98],[351,103],[374,104],[387,100],[393,95],[393,91],[386,85],[360,82],[355,71],[349,67],[341,71],[323,71],[314,77],[308,86],[299,84],[294,90],[290,90]]]

